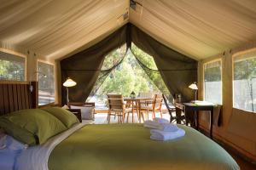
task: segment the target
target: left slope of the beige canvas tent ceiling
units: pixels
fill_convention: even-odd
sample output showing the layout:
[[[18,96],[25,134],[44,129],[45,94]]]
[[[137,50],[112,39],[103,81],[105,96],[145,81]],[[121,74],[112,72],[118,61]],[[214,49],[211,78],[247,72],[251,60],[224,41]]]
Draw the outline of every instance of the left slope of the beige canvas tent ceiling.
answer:
[[[129,1],[1,1],[1,47],[53,60],[122,26]]]

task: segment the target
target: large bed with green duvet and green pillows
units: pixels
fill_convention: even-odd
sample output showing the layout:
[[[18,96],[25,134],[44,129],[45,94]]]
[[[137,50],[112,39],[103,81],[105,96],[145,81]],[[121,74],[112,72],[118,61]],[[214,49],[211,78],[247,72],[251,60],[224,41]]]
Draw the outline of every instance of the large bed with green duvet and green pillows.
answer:
[[[57,112],[52,114],[52,111]],[[29,128],[36,126],[32,127],[35,130],[32,134],[37,138],[28,140],[30,146],[15,156],[14,169],[240,169],[221,146],[191,127],[178,125],[186,132],[182,138],[154,141],[149,139],[149,129],[143,124],[70,122],[70,117],[63,117],[66,113],[58,111],[60,109],[48,112],[29,109],[6,116],[11,117],[6,120],[18,119],[22,125],[28,120]],[[32,121],[37,123],[32,124]],[[58,128],[54,123],[58,123]],[[2,121],[2,127],[3,124]],[[45,133],[48,128],[58,132]]]

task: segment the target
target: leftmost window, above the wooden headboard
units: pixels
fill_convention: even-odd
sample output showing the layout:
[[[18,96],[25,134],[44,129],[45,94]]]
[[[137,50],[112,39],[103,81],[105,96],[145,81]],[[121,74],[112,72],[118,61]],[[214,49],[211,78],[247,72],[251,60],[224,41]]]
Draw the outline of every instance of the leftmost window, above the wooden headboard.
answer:
[[[0,51],[0,80],[25,81],[26,58]]]

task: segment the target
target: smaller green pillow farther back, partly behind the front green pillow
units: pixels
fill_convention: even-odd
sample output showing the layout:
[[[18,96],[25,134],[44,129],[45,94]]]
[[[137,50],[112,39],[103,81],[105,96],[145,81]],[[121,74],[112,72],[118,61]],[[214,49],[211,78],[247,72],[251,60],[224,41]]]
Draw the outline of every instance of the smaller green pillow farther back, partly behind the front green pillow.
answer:
[[[47,107],[43,110],[48,111],[53,116],[57,117],[67,128],[70,128],[74,123],[79,122],[77,116],[61,107]]]

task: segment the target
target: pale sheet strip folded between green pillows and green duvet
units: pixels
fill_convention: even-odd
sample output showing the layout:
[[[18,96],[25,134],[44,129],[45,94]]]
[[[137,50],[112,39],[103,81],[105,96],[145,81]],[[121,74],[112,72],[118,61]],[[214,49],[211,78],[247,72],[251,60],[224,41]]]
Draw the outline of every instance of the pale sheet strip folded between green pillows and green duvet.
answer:
[[[83,121],[49,139],[42,145],[28,147],[20,153],[20,156],[17,156],[15,170],[48,170],[49,155],[51,151],[55,149],[55,146],[86,124],[90,124],[90,122]]]

